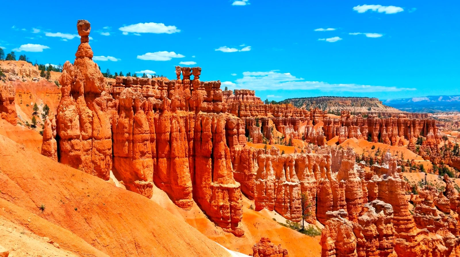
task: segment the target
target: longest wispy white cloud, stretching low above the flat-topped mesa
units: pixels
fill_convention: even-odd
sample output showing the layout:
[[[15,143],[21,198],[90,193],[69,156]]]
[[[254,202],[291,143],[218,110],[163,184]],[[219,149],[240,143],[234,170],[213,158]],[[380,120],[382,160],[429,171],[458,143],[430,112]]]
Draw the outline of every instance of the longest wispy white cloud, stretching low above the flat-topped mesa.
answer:
[[[278,70],[268,72],[243,72],[243,77],[222,82],[222,85],[233,88],[247,88],[251,90],[319,90],[319,91],[346,91],[346,92],[394,92],[416,90],[396,86],[368,86],[358,84],[329,84],[327,82],[306,81],[290,73],[281,73]]]

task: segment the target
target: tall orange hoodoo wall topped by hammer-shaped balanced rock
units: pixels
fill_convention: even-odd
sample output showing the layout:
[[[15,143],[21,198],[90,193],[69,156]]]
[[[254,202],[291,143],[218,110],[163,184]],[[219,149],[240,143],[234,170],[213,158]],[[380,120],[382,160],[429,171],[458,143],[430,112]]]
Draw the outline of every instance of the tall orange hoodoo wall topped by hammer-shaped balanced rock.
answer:
[[[177,80],[116,77],[109,85],[92,61],[90,23],[79,20],[77,29],[81,44],[74,64],[63,66],[62,98],[55,123],[46,120],[42,154],[105,180],[113,171],[149,198],[155,183],[179,207],[189,210],[195,200],[214,223],[241,236],[242,194],[229,144],[246,138],[227,131],[239,119],[223,114],[220,81],[200,81],[199,67],[176,67]]]

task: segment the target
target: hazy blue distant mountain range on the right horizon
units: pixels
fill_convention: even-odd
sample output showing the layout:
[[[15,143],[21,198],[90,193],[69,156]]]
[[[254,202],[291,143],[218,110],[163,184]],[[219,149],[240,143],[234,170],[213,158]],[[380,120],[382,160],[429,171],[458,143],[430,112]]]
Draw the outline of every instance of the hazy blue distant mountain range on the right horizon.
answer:
[[[460,112],[460,95],[387,99],[382,103],[406,112]]]

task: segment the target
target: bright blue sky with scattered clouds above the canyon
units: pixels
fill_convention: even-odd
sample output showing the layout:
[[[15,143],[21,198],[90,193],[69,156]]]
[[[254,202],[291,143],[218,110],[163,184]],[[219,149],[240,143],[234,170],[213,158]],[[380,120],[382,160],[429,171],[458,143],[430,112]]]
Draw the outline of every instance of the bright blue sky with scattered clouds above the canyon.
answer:
[[[95,62],[112,73],[174,79],[175,65],[195,62],[182,66],[200,66],[201,80],[276,101],[460,94],[458,1],[95,2],[6,1],[0,46],[73,62],[87,19]]]

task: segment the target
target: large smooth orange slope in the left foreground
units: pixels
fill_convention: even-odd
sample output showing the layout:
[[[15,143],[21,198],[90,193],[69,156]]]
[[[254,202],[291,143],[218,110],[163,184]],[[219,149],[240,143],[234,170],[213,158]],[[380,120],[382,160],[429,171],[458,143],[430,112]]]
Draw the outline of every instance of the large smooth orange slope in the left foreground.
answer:
[[[0,216],[80,256],[230,256],[152,200],[3,136],[0,188]]]

